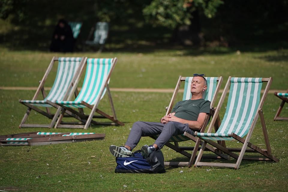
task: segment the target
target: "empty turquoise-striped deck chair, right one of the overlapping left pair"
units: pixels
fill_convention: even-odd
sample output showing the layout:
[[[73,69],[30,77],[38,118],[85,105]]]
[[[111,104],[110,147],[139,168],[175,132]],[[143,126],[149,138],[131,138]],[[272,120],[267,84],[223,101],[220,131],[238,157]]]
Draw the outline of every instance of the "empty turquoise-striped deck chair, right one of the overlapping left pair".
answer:
[[[115,109],[113,106],[113,101],[109,89],[109,81],[111,73],[115,67],[117,58],[88,58],[85,79],[79,92],[79,95],[74,101],[70,101],[71,95],[68,97],[67,101],[57,100],[55,104],[63,107],[61,115],[56,122],[55,128],[84,128],[87,129],[90,123],[95,125],[124,125],[122,122],[117,120]],[[74,90],[74,87],[72,91]],[[110,101],[111,110],[113,116],[110,116],[103,111],[99,110],[98,104],[103,98],[105,92],[108,93],[108,98]],[[86,115],[83,108],[91,109],[90,115]],[[76,111],[72,108],[78,108]],[[97,112],[100,116],[95,116],[94,113]],[[80,122],[71,122],[66,124],[60,124],[61,119],[67,113],[71,117],[78,119]],[[107,118],[112,122],[96,122],[93,118]],[[77,124],[77,125],[76,125]]]

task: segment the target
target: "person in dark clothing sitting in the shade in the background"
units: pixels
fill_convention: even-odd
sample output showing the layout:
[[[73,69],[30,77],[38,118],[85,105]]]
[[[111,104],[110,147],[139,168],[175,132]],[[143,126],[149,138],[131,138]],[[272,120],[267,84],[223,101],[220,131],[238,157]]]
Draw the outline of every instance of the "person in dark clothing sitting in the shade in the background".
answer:
[[[67,21],[60,19],[52,35],[50,51],[73,52],[74,42],[71,27]]]

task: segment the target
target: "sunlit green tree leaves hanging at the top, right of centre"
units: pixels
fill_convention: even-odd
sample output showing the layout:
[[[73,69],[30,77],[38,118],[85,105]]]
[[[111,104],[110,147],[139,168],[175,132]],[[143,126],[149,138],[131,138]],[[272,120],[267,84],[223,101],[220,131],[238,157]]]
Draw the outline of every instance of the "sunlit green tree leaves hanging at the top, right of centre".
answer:
[[[221,0],[153,0],[143,9],[143,14],[154,26],[174,29],[179,25],[190,25],[192,12],[196,9],[203,10],[208,18],[214,17],[221,4]]]

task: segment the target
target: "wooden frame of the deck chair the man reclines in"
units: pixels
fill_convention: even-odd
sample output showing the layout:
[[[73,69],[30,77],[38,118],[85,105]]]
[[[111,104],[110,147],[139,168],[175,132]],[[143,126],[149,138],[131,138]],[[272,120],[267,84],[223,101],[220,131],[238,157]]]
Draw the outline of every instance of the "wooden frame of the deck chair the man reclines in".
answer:
[[[171,110],[173,108],[173,105],[174,105],[174,102],[175,102],[175,99],[176,99],[176,95],[178,94],[179,92],[179,88],[180,88],[180,85],[181,85],[181,82],[185,82],[185,79],[187,77],[182,77],[182,76],[179,76],[179,79],[177,81],[177,84],[176,84],[176,87],[175,87],[175,90],[174,90],[174,93],[173,93],[173,96],[171,98],[171,101],[170,101],[170,104],[169,106],[167,107],[167,112],[166,112],[166,115],[168,115],[169,113],[171,113]],[[205,128],[208,124],[208,121],[210,119],[210,116],[214,114],[214,104],[215,104],[215,101],[216,101],[216,98],[217,98],[217,95],[218,95],[218,92],[219,92],[219,89],[220,89],[220,86],[221,86],[221,83],[223,81],[223,77],[220,76],[220,77],[217,77],[217,86],[215,88],[215,92],[214,92],[214,95],[212,96],[212,100],[211,100],[211,104],[210,104],[210,114],[209,115],[206,115],[206,118],[205,118],[205,122],[202,126],[202,128],[200,129],[200,132],[204,132],[205,131]],[[188,91],[187,91],[188,92]],[[184,93],[185,94],[185,93]],[[218,118],[219,119],[219,118]],[[215,126],[215,128],[217,129],[217,127]],[[184,133],[184,136],[187,138],[187,139],[184,139],[183,141],[187,141],[187,140],[192,140],[194,142],[196,142],[195,146],[192,147],[192,146],[188,146],[188,147],[183,147],[183,146],[179,146],[178,142],[175,141],[174,137],[177,138],[177,140],[179,140],[179,142],[181,141],[181,139],[183,138],[182,135],[179,135],[179,136],[173,136],[165,145],[173,150],[175,150],[176,152],[179,152],[181,153],[182,155],[190,158],[190,160],[188,162],[164,162],[164,165],[165,166],[188,166],[188,167],[191,167],[193,165],[193,162],[195,160],[195,157],[196,157],[196,153],[197,151],[200,149],[199,148],[199,145],[202,144],[202,141],[197,138],[197,137],[194,137],[193,135],[191,134],[188,134],[187,132]],[[156,139],[157,137],[151,137],[152,139]],[[174,142],[174,145],[172,144]],[[221,145],[222,143],[219,142],[219,144]],[[197,150],[194,150],[194,149],[197,149]],[[225,159],[229,159],[229,157],[227,157],[227,155],[224,155],[222,153],[220,153],[219,151],[215,150],[213,147],[208,147],[206,150],[208,151],[212,151],[214,152],[215,154],[217,154],[217,157],[216,158],[225,158]],[[192,154],[186,152],[186,151],[193,151]]]

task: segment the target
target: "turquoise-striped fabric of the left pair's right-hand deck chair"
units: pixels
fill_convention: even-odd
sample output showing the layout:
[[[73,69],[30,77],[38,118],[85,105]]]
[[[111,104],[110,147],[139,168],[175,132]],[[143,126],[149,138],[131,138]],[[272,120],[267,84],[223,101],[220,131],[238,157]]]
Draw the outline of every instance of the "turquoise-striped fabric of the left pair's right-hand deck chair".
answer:
[[[84,83],[77,98],[74,101],[57,100],[56,103],[66,107],[84,108],[85,105],[82,105],[81,101],[94,105],[98,99],[102,99],[106,88],[100,95],[101,88],[105,86],[112,69],[112,61],[112,58],[88,58]]]

